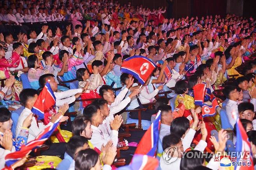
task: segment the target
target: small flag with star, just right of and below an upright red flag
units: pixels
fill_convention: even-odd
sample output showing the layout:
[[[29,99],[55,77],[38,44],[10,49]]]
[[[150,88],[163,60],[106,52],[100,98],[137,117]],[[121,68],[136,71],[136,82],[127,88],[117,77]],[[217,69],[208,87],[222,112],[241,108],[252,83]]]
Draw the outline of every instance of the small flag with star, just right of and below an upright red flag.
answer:
[[[208,116],[214,116],[216,114],[216,108],[219,107],[219,104],[215,96],[211,95],[210,97],[211,97],[210,101],[212,102],[212,106],[209,106],[205,103],[203,104],[203,107],[202,107],[203,118]]]

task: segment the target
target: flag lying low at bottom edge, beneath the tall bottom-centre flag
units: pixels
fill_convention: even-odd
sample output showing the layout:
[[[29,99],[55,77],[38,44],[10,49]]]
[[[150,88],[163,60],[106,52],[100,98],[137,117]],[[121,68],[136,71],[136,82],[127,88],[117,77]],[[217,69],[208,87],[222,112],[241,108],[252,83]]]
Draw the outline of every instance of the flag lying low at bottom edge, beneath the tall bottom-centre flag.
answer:
[[[155,170],[158,168],[159,161],[147,155],[135,154],[130,165],[126,165],[117,170]]]

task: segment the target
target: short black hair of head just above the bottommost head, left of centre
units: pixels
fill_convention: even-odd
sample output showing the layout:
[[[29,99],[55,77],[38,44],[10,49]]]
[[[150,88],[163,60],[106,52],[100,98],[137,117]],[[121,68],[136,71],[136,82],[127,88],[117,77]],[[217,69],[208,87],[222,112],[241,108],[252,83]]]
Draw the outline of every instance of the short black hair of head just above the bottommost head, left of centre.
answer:
[[[85,143],[88,143],[88,140],[80,135],[72,136],[67,142],[67,154],[74,159],[75,151],[79,147],[83,147]]]

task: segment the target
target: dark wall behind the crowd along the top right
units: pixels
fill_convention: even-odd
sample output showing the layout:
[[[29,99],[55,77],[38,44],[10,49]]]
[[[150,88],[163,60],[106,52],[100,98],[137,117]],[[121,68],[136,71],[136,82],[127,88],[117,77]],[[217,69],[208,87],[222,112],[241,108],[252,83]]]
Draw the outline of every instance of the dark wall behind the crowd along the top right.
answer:
[[[121,4],[128,1],[150,9],[168,6],[167,0],[119,0]],[[215,14],[223,17],[227,13],[256,17],[256,0],[173,0],[172,16],[175,18]]]

